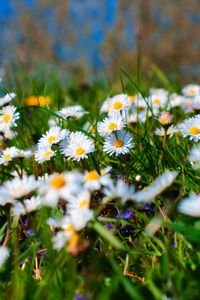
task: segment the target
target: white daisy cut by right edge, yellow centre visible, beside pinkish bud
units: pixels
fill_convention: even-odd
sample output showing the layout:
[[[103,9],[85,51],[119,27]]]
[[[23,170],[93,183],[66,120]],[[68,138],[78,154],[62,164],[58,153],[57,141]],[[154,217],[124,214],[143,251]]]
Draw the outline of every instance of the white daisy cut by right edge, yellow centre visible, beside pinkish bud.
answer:
[[[185,120],[179,127],[183,137],[189,136],[190,140],[200,140],[200,115]]]

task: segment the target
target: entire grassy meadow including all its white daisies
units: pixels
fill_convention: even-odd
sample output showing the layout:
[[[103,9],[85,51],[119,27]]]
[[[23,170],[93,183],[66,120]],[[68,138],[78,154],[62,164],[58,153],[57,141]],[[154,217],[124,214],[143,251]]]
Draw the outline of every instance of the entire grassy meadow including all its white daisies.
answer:
[[[0,299],[198,299],[200,86],[8,74]]]

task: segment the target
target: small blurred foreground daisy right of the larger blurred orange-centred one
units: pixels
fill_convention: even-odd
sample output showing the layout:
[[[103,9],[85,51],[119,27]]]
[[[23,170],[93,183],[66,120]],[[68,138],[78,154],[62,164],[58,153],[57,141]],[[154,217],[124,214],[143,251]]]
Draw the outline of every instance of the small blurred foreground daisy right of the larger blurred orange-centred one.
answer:
[[[87,171],[84,175],[84,187],[91,191],[99,190],[102,185],[108,186],[111,181],[109,174],[99,175],[95,170]]]

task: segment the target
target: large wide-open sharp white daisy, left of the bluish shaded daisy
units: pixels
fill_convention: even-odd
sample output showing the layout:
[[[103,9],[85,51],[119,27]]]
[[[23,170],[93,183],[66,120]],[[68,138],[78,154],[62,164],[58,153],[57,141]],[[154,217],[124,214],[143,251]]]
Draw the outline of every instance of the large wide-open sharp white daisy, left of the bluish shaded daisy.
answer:
[[[95,151],[94,143],[82,132],[71,133],[68,142],[61,143],[61,152],[68,159],[80,161]]]

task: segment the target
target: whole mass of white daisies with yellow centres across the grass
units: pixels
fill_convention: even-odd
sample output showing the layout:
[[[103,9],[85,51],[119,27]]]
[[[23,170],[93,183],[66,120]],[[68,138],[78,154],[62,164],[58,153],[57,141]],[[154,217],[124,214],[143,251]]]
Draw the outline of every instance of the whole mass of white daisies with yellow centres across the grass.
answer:
[[[113,171],[116,162],[125,162],[124,167],[135,159],[138,135],[135,125],[144,127],[153,120],[149,145],[153,144],[155,134],[159,136],[157,139],[163,139],[163,150],[167,136],[181,141],[186,138],[190,149],[188,161],[195,169],[200,168],[199,85],[187,85],[181,94],[151,88],[147,96],[123,93],[108,97],[100,107],[98,119],[92,121],[81,105],[66,106],[53,114],[54,118],[48,120],[49,127],[45,128],[48,130],[27,149],[15,146],[15,142],[20,144],[16,139],[17,133],[20,135],[16,128],[20,114],[9,104],[13,97],[12,93],[0,99],[0,132],[6,145],[1,149],[0,170],[11,178],[2,181],[0,186],[0,206],[15,220],[22,216],[35,218],[44,208],[48,212],[59,212],[53,216],[49,213],[47,221],[56,250],[77,244],[82,230],[88,223],[99,220],[99,213],[110,204],[140,210],[156,201],[178,177],[178,170],[165,167],[162,174],[150,181],[141,182],[143,174],[137,173],[134,181],[135,170],[129,170],[131,176],[125,175],[126,172],[116,176]],[[183,116],[189,114],[180,123],[175,123],[173,118],[177,108]],[[87,121],[79,130],[70,127],[70,122],[81,118]],[[57,171],[59,159],[62,172]],[[185,198],[178,205],[178,211],[200,216],[199,195],[193,193]],[[0,247],[0,256],[1,267],[9,256],[4,244]]]

